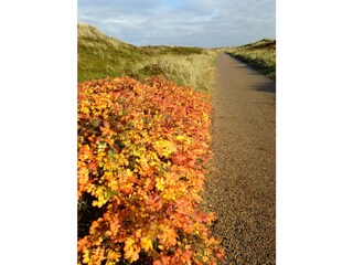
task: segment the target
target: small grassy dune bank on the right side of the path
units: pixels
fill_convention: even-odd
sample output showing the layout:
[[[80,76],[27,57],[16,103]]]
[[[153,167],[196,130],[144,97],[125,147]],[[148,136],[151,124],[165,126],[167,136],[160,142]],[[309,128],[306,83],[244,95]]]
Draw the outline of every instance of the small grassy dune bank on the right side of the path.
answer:
[[[264,39],[243,46],[225,47],[224,51],[276,80],[276,40]]]

